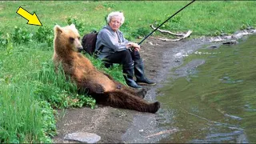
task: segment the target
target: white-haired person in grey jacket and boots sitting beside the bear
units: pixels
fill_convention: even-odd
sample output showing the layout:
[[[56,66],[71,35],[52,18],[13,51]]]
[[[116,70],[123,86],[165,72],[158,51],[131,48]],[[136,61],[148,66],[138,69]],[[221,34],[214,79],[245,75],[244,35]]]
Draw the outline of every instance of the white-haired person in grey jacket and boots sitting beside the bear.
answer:
[[[112,12],[106,18],[107,25],[98,32],[96,48],[98,58],[109,66],[109,63],[122,64],[122,72],[128,86],[142,88],[138,84],[155,85],[144,74],[144,65],[138,51],[137,43],[129,42],[119,30],[125,17],[122,12]],[[134,75],[136,82],[134,81]]]

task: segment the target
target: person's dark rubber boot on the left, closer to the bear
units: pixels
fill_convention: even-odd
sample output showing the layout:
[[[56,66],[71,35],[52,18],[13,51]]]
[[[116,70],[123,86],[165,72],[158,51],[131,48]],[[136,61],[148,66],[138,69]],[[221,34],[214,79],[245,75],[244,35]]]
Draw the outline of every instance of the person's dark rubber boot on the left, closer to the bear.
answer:
[[[134,63],[130,63],[128,66],[122,66],[122,72],[128,86],[142,88],[142,86],[138,86],[138,84],[134,81]]]

